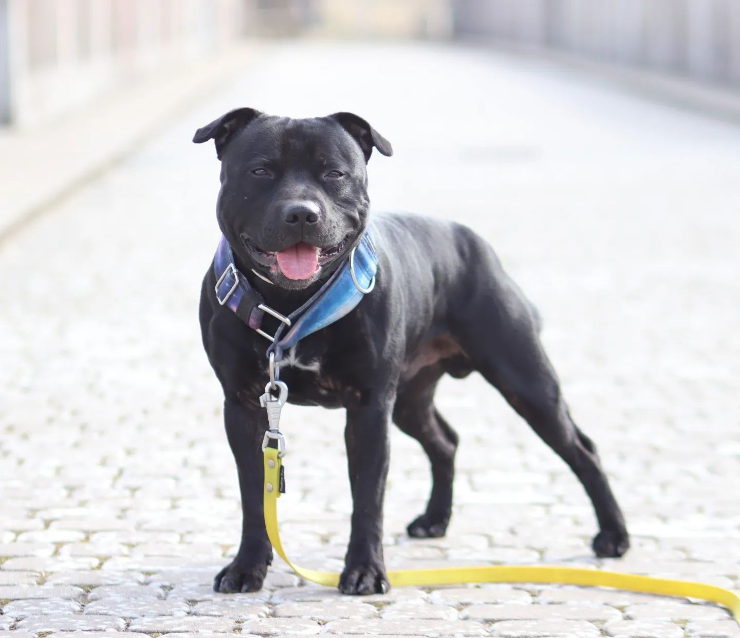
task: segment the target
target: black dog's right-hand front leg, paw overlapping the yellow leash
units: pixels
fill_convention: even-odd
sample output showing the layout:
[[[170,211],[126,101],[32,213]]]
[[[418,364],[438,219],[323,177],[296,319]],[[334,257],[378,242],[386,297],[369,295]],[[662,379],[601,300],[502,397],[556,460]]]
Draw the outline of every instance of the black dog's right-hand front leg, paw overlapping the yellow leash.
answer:
[[[390,588],[383,563],[383,496],[388,474],[388,420],[393,400],[378,397],[347,409],[345,441],[352,490],[352,525],[343,594],[385,593]]]

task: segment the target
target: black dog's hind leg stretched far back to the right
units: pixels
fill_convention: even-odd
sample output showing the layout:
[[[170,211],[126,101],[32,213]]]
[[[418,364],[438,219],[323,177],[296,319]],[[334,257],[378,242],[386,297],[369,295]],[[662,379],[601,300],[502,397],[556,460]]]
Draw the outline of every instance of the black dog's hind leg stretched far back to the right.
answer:
[[[482,253],[482,254],[481,254]],[[602,470],[596,446],[573,423],[559,381],[539,341],[536,318],[493,252],[479,254],[479,279],[460,306],[456,331],[477,370],[527,420],[534,432],[573,470],[591,499],[599,534],[598,556],[617,557],[629,548],[622,511]],[[488,261],[488,263],[486,263]]]

